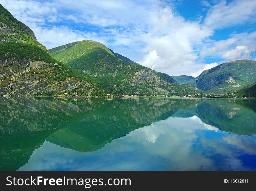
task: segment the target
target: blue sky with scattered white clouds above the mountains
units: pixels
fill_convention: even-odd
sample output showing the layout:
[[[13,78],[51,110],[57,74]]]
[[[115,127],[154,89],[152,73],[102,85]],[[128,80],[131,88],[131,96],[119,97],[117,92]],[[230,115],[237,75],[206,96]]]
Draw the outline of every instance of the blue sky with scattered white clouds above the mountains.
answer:
[[[0,0],[47,49],[94,40],[169,75],[256,60],[255,0]]]

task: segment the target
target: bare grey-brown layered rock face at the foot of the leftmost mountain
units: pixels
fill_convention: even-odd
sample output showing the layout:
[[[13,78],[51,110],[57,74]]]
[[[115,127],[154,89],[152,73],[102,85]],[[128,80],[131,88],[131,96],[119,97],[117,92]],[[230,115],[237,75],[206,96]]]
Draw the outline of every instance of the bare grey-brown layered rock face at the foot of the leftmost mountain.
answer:
[[[54,73],[55,66],[58,70],[66,71],[66,68],[57,63],[42,61],[27,61],[19,59],[0,60],[0,95],[33,95],[36,92],[62,92],[77,90],[90,95],[94,90],[91,83],[77,77],[60,78],[60,74]],[[78,92],[73,92],[73,95]],[[80,94],[80,93],[79,93]]]

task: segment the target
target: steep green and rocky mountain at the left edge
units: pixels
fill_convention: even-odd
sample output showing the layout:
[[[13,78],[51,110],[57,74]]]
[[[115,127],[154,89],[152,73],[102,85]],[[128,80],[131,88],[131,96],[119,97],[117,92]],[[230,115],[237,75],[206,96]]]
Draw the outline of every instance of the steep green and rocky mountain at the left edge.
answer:
[[[0,4],[0,95],[101,95],[104,91],[52,57],[33,31]]]

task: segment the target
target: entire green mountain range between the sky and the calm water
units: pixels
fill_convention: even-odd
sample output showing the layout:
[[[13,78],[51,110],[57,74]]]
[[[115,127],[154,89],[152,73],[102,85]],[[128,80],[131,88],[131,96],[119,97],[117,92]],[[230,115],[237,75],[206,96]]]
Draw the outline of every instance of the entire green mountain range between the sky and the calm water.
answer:
[[[47,50],[0,6],[0,95],[106,96],[232,93],[256,81],[255,61],[238,60],[200,76],[169,76],[84,40]],[[241,94],[241,93],[240,93]]]

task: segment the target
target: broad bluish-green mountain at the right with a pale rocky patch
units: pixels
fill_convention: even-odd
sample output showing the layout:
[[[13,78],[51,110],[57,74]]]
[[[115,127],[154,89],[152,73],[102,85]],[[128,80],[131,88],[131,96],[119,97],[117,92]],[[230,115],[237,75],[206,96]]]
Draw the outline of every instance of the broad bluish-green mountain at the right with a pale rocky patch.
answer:
[[[208,93],[232,93],[256,81],[256,61],[236,60],[203,71],[184,84],[191,84]]]

